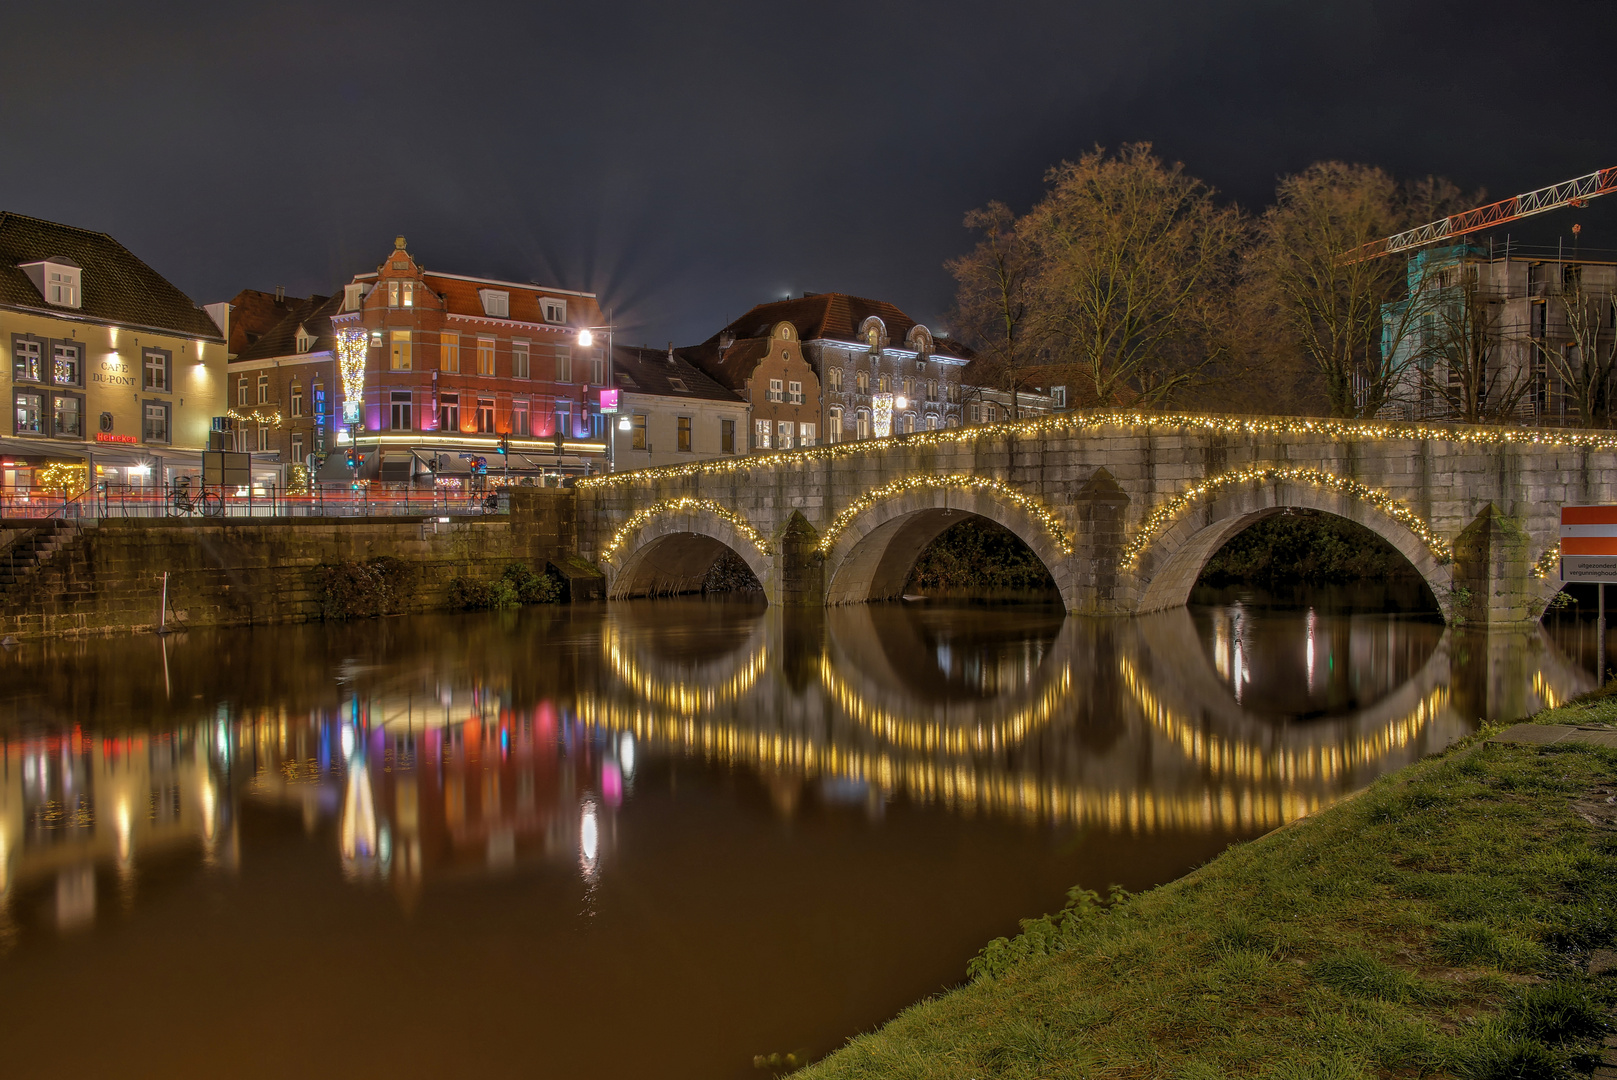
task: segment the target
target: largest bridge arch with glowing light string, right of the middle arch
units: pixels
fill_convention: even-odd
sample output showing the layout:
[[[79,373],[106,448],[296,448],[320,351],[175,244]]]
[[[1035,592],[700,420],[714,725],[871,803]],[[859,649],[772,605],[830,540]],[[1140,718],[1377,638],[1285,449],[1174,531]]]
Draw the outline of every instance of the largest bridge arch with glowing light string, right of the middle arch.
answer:
[[[1410,524],[1350,490],[1279,477],[1218,487],[1187,504],[1159,534],[1145,537],[1134,563],[1140,597],[1135,611],[1143,614],[1184,606],[1201,577],[1201,567],[1224,543],[1284,509],[1315,509],[1370,529],[1408,559],[1444,616],[1454,614],[1449,610],[1450,567]]]

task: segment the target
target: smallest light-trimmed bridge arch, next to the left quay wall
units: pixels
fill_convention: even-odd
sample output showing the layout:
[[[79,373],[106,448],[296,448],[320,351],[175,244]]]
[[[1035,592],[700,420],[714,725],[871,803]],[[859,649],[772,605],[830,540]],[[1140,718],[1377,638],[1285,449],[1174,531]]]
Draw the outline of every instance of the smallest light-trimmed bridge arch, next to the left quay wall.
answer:
[[[634,514],[602,553],[606,595],[666,597],[699,592],[713,563],[734,551],[775,603],[770,545],[741,516],[708,500],[674,500]]]

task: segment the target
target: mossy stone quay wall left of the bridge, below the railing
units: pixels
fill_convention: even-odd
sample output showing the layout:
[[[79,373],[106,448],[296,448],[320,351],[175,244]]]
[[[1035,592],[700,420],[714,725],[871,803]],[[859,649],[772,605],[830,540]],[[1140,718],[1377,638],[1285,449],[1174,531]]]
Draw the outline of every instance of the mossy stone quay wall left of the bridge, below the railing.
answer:
[[[412,611],[448,606],[450,580],[492,579],[511,563],[543,571],[574,550],[571,491],[519,490],[509,514],[456,517],[105,519],[86,522],[26,580],[0,592],[0,637],[264,626],[320,618],[320,567],[406,559]]]

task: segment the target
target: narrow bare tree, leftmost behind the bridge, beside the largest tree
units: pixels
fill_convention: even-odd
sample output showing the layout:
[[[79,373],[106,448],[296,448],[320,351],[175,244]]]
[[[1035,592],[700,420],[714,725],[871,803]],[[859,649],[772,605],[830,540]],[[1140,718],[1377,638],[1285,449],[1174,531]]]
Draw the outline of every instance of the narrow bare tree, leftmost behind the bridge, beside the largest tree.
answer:
[[[970,254],[944,264],[959,283],[951,323],[975,352],[983,378],[1011,394],[1011,419],[1020,419],[1025,369],[1033,359],[1027,338],[1033,265],[1015,213],[990,202],[965,215],[980,239]]]

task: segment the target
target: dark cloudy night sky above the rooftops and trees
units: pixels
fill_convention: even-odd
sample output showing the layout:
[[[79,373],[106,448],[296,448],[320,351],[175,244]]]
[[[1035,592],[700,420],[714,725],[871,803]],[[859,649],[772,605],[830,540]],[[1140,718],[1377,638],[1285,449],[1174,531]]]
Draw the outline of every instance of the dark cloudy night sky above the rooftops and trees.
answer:
[[[146,8],[158,8],[155,13]],[[1318,158],[1491,197],[1617,165],[1617,5],[6,5],[0,209],[197,302],[430,270],[595,289],[619,341],[786,293],[938,325],[960,217],[1146,139],[1242,205]],[[1606,202],[1617,204],[1617,197]],[[1581,220],[1617,249],[1617,205]]]

